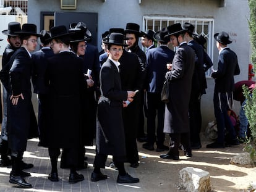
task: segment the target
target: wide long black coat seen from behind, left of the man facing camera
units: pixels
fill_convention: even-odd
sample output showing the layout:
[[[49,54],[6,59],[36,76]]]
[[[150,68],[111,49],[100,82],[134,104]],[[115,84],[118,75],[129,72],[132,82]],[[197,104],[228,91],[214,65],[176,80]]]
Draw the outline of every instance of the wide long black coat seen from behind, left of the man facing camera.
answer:
[[[48,59],[46,85],[49,86],[49,111],[46,122],[45,147],[75,148],[81,144],[81,106],[83,60],[65,51]]]

